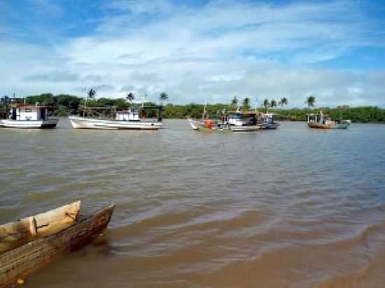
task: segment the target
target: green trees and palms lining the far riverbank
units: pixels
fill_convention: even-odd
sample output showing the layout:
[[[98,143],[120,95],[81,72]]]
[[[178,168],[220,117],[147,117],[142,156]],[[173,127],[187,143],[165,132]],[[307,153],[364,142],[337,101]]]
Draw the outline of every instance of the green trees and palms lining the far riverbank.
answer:
[[[92,89],[93,90],[93,89]],[[94,91],[94,90],[93,90]],[[91,92],[87,91],[87,97],[90,98],[87,101],[88,107],[109,107],[116,106],[118,110],[123,108],[127,108],[128,106],[132,106],[133,108],[139,108],[141,104],[133,103],[134,94],[132,92],[127,94],[126,98],[119,99],[110,99],[106,97],[101,97],[99,99],[95,99],[94,96],[96,91]],[[165,93],[162,92],[160,96]],[[166,101],[168,99],[168,95],[162,95],[161,101]],[[244,99],[243,106],[250,106],[250,99]],[[68,95],[68,94],[57,94],[53,95],[51,93],[45,93],[34,96],[27,96],[27,103],[35,104],[38,102],[42,105],[48,105],[52,107],[53,115],[56,116],[66,116],[69,114],[79,114],[79,106],[84,105],[84,99]],[[309,108],[283,108],[287,105],[288,99],[281,98],[281,100],[277,103],[274,100],[269,101],[269,99],[265,99],[263,101],[263,107],[259,107],[258,110],[266,111],[276,114],[276,120],[288,120],[288,121],[306,121],[307,114],[309,113],[318,113],[319,110],[323,110],[326,115],[329,115],[332,119],[349,119],[352,122],[385,122],[385,109],[378,108],[373,106],[364,106],[364,107],[348,107],[348,106],[340,106],[337,108],[328,108],[328,107],[317,107],[314,108],[316,99],[314,96],[307,97],[307,105]],[[156,103],[146,102],[146,106],[155,106]],[[207,104],[206,110],[210,117],[217,117],[221,113],[229,110],[237,110],[238,99],[237,96],[234,96],[230,103],[216,103],[216,104]],[[279,107],[279,108],[278,108]],[[185,117],[194,117],[200,118],[202,117],[202,113],[204,110],[203,104],[198,103],[189,103],[186,105],[178,105],[168,103],[163,107],[162,117],[163,118],[185,118]],[[154,117],[156,111],[148,110],[146,111],[146,117]],[[6,107],[0,103],[0,117],[6,116]]]

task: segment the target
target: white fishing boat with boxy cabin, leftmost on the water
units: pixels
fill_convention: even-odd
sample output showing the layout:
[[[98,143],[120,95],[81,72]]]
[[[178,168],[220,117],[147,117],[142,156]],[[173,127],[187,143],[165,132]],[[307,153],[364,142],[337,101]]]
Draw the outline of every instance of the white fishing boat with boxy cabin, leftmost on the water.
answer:
[[[0,119],[0,127],[20,129],[55,128],[59,120],[48,117],[48,106],[15,103],[10,105],[10,116]]]

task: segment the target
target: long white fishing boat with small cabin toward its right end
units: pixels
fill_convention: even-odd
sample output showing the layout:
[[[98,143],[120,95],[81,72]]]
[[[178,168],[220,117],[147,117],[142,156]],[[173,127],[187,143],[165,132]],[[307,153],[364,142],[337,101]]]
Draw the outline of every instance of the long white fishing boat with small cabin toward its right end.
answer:
[[[103,117],[80,117],[73,115],[69,116],[69,121],[75,129],[158,130],[162,127],[162,122],[160,122],[159,118],[160,117],[158,117],[158,120],[140,119],[139,111],[129,108],[127,110],[116,112],[115,119]]]

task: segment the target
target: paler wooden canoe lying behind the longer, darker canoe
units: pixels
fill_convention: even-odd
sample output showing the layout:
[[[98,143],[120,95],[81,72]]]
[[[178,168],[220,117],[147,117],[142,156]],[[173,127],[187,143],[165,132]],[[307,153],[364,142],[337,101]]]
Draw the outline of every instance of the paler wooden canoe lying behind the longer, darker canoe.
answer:
[[[79,209],[80,201],[77,201],[46,213],[0,225],[0,254],[66,229],[78,218]]]

